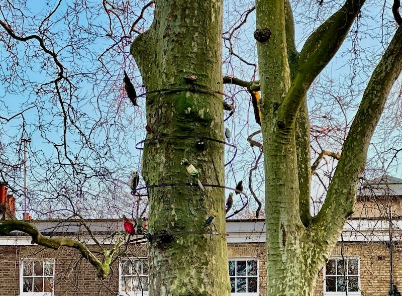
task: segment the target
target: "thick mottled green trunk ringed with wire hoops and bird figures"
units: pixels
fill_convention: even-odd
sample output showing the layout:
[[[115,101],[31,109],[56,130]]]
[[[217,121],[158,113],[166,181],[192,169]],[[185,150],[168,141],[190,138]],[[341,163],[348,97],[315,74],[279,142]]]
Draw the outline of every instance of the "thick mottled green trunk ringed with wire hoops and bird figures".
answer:
[[[224,189],[208,186],[224,185],[224,145],[213,140],[224,140],[218,93],[222,1],[157,2],[152,26],[131,52],[146,91],[155,91],[146,97],[153,133],[147,134],[142,166],[149,194],[150,295],[229,295]],[[205,191],[182,158],[199,171]],[[218,216],[204,227],[215,211]]]

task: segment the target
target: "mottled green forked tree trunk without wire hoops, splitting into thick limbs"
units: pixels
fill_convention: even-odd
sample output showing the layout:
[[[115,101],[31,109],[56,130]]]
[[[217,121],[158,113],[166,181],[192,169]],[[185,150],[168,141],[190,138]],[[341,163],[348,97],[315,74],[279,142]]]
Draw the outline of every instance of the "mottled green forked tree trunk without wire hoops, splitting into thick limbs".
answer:
[[[329,187],[316,217],[309,212],[311,163],[306,93],[341,46],[364,1],[347,0],[307,40],[294,47],[289,2],[257,0],[257,30],[262,90],[262,133],[266,180],[267,295],[312,295],[318,271],[353,212],[357,180],[368,144],[402,57],[399,28],[374,71]]]

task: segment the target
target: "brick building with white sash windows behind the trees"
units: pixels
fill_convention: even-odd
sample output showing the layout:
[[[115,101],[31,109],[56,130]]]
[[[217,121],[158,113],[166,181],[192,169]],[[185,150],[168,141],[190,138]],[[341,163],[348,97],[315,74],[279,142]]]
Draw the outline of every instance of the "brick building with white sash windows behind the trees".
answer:
[[[396,289],[402,286],[401,195],[402,180],[388,176],[361,189],[356,212],[319,273],[315,295],[385,296],[391,284]],[[79,221],[31,222],[45,235],[68,236],[93,245]],[[122,231],[121,220],[91,220],[88,226],[105,245],[113,233]],[[227,233],[232,295],[265,295],[264,221],[228,220]],[[100,280],[76,250],[31,245],[29,236],[15,232],[0,237],[0,295],[146,295],[146,244],[130,245],[127,253],[113,266],[111,276]]]

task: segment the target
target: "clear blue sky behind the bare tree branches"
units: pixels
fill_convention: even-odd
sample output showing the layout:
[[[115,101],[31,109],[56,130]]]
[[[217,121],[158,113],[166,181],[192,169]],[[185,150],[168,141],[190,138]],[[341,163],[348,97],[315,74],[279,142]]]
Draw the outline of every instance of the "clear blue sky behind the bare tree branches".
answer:
[[[138,14],[144,4],[145,2],[134,3],[132,8],[134,13],[121,14],[125,30],[137,18],[135,13]],[[345,136],[344,129],[350,125],[373,66],[380,58],[390,38],[389,34],[395,28],[390,16],[390,4],[389,1],[386,3],[384,14],[382,14],[382,3],[369,3],[364,7],[362,17],[357,25],[353,26],[352,33],[349,34],[334,60],[316,80],[309,93],[312,125],[317,126],[318,129],[330,130],[329,137],[320,141],[320,146],[313,141],[317,151],[328,149],[339,152],[340,150],[339,141]],[[29,210],[34,211],[38,204],[46,205],[45,209],[37,210],[36,217],[46,216],[45,210],[50,205],[48,195],[51,195],[54,201],[61,201],[58,204],[61,208],[69,207],[65,199],[54,191],[70,196],[73,201],[76,201],[78,207],[82,207],[82,211],[99,212],[100,216],[118,215],[123,205],[126,215],[136,215],[136,206],[133,206],[129,195],[128,182],[131,171],[140,170],[141,151],[135,149],[135,144],[144,139],[146,122],[143,98],[139,99],[140,107],[134,108],[125,97],[122,87],[122,73],[126,69],[129,76],[133,78],[137,93],[144,92],[136,65],[128,52],[132,39],[123,39],[118,43],[116,51],[108,52],[102,60],[99,60],[99,54],[113,43],[108,34],[112,32],[114,40],[119,40],[118,37],[123,34],[120,21],[114,19],[109,24],[102,7],[96,3],[93,3],[92,14],[87,14],[87,11],[82,9],[74,15],[69,12],[66,5],[62,2],[57,12],[46,19],[42,28],[47,30],[44,31],[45,33],[50,32],[49,34],[56,38],[53,43],[54,50],[65,65],[65,74],[71,82],[69,85],[67,81],[62,81],[59,85],[62,88],[65,87],[62,89],[62,100],[65,102],[63,106],[71,117],[68,118],[66,133],[67,155],[71,160],[82,164],[80,173],[83,174],[74,173],[68,166],[68,160],[63,156],[61,157],[63,165],[57,164],[55,145],[57,147],[62,143],[64,126],[60,114],[63,110],[54,84],[50,83],[43,88],[39,86],[55,80],[58,69],[54,67],[51,58],[38,49],[36,41],[29,42],[29,46],[16,42],[13,52],[17,52],[18,55],[14,57],[7,52],[4,43],[0,47],[2,61],[0,76],[6,81],[0,86],[0,116],[10,118],[22,110],[35,107],[24,112],[24,119],[18,116],[9,122],[4,120],[0,122],[3,145],[0,160],[13,165],[21,164],[21,140],[26,137],[32,139],[29,144],[27,163],[31,209]],[[236,20],[242,20],[244,11],[252,6],[247,1],[225,1],[224,32],[236,26],[233,25]],[[298,49],[302,48],[308,35],[335,9],[328,7],[328,5],[319,7],[315,2],[294,4]],[[54,8],[56,8],[56,2],[51,2],[48,6],[43,4],[43,7],[30,6],[28,8],[30,13],[27,13],[29,18],[25,21],[24,27],[16,32],[22,33],[24,29],[25,36],[38,34],[34,29],[35,24],[37,27],[45,19],[46,12]],[[153,8],[146,11],[146,20],[142,20],[138,27],[146,28],[147,24],[150,24],[152,12]],[[5,13],[5,16],[10,17],[10,14]],[[90,22],[86,20],[87,16],[92,18]],[[254,23],[255,15],[252,12],[246,24],[234,32],[232,39],[234,52],[251,63],[256,63],[255,41],[252,37]],[[32,29],[28,28],[30,24],[33,25]],[[71,37],[68,37],[70,36],[67,34],[68,30],[74,32]],[[91,32],[90,36],[88,35],[89,40],[85,39],[87,36],[85,30]],[[353,33],[354,31],[358,33]],[[47,45],[50,46],[50,43]],[[19,65],[16,65],[17,60]],[[258,73],[253,78],[254,70],[253,66],[246,65],[236,56],[230,55],[228,49],[224,47],[224,74],[234,75],[244,80],[258,79]],[[399,85],[395,86],[396,92],[400,89],[399,87],[400,80]],[[225,92],[233,95],[236,104],[235,115],[225,124],[232,132],[232,143],[235,143],[239,150],[233,165],[226,168],[226,182],[228,186],[235,187],[236,183],[243,179],[247,188],[248,172],[253,165],[253,160],[258,156],[258,150],[252,149],[246,138],[258,130],[259,126],[254,123],[248,92],[233,85],[226,85]],[[343,110],[339,103],[342,103]],[[389,150],[390,145],[395,144],[398,148],[402,144],[398,140],[400,139],[400,123],[393,119],[393,116],[400,111],[396,96],[388,105],[392,112],[384,114],[380,123],[381,129],[373,139],[376,144],[370,149],[368,165],[372,169],[368,170],[370,173],[368,176],[375,176],[381,172],[381,169],[388,167],[387,173],[402,177],[402,171],[397,165],[398,157],[392,159],[391,165],[388,166],[393,155],[393,151]],[[72,109],[78,110],[78,113],[74,114]],[[22,132],[24,120],[26,133]],[[390,125],[394,125],[392,129]],[[79,130],[84,132],[87,139],[80,135]],[[83,139],[87,141],[84,147],[80,144]],[[64,153],[63,149],[60,151]],[[232,157],[232,153],[228,151],[227,159]],[[385,163],[383,167],[382,162]],[[330,174],[334,165],[328,159],[328,164],[323,165],[320,173]],[[7,173],[3,174],[3,178],[7,178],[10,182],[20,205],[19,209],[22,211],[22,166],[10,166],[5,170]],[[66,180],[43,184],[43,178],[50,180],[66,178]],[[73,187],[74,181],[77,180],[80,182],[79,194],[75,193],[77,188]],[[259,166],[253,183],[257,194],[262,197],[264,194],[262,165]],[[316,181],[314,188],[317,192],[322,191]],[[226,192],[226,196],[228,193]],[[83,201],[85,194],[90,194],[95,200],[98,199],[97,203],[105,205],[106,209],[99,211],[95,206],[86,204]],[[110,199],[118,201],[108,205]],[[239,201],[237,202],[240,204]],[[252,209],[254,208],[255,204]]]

